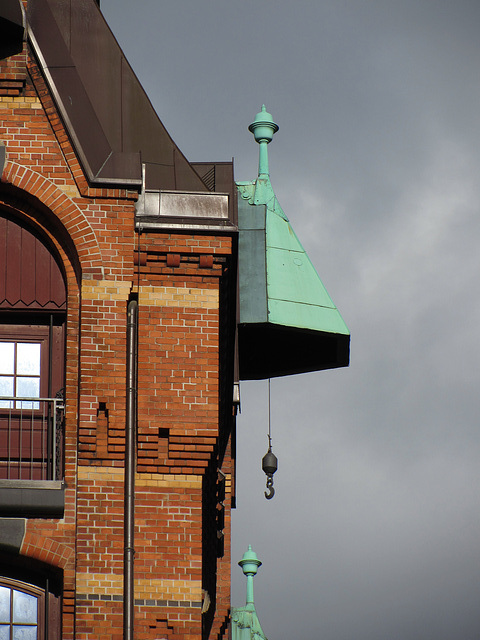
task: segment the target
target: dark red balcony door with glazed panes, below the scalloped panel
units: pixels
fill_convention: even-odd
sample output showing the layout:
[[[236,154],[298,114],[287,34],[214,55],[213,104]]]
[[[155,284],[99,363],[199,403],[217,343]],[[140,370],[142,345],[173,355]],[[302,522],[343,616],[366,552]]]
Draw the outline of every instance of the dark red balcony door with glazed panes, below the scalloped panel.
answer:
[[[0,313],[0,478],[60,479],[63,319],[28,324],[33,315],[10,314],[10,322],[18,323],[4,324],[3,317]]]

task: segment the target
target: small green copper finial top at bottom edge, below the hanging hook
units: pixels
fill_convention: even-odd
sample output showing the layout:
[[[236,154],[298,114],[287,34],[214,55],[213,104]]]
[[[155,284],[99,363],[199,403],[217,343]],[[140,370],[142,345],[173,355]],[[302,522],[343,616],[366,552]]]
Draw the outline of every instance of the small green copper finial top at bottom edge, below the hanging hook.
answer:
[[[232,608],[232,640],[267,640],[253,600],[253,577],[262,563],[251,545],[248,546],[248,550],[238,564],[247,576],[247,601],[244,607]]]

